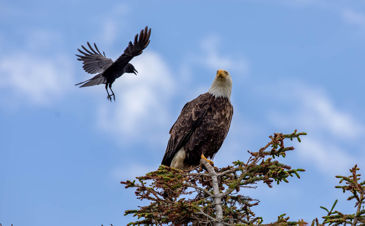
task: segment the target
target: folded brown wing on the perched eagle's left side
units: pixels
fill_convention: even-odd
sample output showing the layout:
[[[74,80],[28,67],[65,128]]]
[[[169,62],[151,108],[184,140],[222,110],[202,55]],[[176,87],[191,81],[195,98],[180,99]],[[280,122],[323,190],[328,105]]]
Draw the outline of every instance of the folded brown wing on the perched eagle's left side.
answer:
[[[185,104],[180,116],[170,129],[170,139],[167,145],[163,165],[170,165],[174,155],[191,136],[192,132],[200,124],[210,107],[212,96],[208,93],[201,94],[199,97]]]

